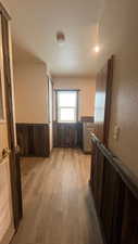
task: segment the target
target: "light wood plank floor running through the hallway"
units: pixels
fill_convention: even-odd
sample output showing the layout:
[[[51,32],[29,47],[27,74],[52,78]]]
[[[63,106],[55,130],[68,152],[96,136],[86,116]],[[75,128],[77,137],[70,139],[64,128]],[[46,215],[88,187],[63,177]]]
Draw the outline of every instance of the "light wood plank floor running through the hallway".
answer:
[[[24,218],[12,244],[102,244],[88,187],[90,156],[54,149],[24,158]]]

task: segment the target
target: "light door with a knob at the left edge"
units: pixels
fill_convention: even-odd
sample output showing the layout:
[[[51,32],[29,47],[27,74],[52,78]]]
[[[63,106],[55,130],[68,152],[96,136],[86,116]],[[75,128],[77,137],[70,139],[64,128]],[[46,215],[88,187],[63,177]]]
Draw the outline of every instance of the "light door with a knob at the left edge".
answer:
[[[4,61],[2,49],[2,23],[0,15],[0,244],[8,244],[14,233],[11,191],[9,119],[7,111]]]

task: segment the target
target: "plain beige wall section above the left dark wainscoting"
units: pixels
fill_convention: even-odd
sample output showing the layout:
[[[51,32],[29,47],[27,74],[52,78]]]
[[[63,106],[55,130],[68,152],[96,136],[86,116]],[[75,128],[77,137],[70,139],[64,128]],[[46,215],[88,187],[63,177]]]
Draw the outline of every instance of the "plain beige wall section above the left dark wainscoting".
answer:
[[[16,123],[48,123],[47,67],[29,62],[14,66]]]

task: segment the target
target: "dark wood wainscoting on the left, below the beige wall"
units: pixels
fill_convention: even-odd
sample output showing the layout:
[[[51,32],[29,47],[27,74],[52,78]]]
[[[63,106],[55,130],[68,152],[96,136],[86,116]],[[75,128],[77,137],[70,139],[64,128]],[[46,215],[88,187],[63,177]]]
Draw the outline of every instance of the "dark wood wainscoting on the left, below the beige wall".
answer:
[[[48,124],[16,124],[16,133],[22,156],[49,156]]]

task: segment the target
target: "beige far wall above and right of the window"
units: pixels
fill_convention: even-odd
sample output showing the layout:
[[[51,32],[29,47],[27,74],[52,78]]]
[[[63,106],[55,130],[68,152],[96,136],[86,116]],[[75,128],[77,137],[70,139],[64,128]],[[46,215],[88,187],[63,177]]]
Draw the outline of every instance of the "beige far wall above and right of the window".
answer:
[[[95,110],[95,78],[53,78],[54,89],[79,89],[79,117],[92,116]]]

